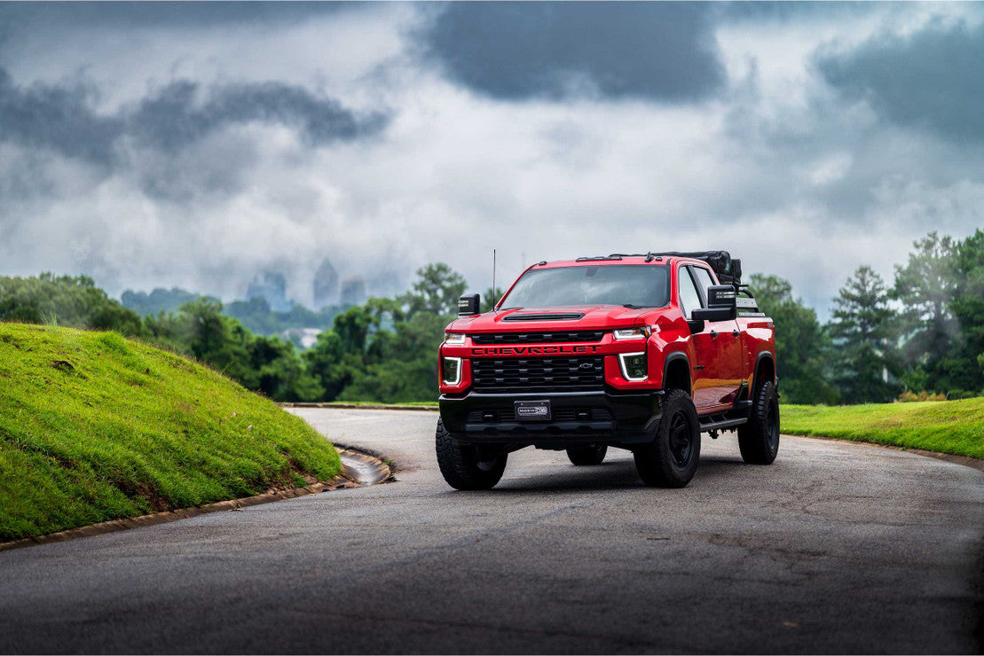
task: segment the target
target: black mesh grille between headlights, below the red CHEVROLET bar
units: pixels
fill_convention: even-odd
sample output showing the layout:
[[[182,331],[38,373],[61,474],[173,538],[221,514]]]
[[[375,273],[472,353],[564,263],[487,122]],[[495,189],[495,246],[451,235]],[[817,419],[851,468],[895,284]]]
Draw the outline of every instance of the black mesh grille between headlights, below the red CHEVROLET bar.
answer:
[[[471,361],[476,391],[594,391],[604,388],[604,360],[587,358],[511,358]]]

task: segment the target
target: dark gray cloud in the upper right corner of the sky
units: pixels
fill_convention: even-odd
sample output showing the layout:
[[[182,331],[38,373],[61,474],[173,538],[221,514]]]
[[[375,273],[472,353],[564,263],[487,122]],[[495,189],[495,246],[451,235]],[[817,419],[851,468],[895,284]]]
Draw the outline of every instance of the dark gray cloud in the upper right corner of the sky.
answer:
[[[884,34],[840,54],[821,55],[827,82],[865,99],[894,123],[954,141],[984,140],[984,26],[939,22],[908,36]]]

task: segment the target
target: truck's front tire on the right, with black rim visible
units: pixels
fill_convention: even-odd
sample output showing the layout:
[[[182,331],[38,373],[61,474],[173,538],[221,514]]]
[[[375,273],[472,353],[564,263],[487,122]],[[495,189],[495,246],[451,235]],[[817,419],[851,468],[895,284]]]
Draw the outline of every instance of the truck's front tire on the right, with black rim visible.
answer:
[[[666,392],[655,440],[634,455],[646,485],[682,488],[690,483],[701,458],[701,424],[690,394],[682,389]]]

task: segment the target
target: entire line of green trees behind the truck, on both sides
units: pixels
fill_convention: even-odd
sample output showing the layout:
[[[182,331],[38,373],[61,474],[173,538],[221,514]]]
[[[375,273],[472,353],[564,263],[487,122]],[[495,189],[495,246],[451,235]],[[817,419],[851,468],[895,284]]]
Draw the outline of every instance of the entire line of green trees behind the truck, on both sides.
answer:
[[[883,402],[984,393],[984,232],[962,241],[930,233],[887,283],[858,268],[834,299],[830,322],[787,280],[755,274],[750,288],[776,328],[783,401]],[[420,268],[411,289],[336,314],[298,350],[257,334],[214,298],[141,317],[87,276],[0,277],[0,320],[112,329],[207,363],[282,401],[433,399],[436,347],[465,290],[447,265]],[[486,290],[489,309],[502,290]]]

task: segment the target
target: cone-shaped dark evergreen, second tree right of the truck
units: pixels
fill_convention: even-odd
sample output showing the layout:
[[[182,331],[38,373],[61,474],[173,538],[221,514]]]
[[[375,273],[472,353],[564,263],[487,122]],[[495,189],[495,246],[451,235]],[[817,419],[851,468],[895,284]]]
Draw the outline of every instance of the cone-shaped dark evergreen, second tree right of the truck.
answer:
[[[835,381],[851,403],[885,402],[898,391],[894,348],[895,313],[885,282],[870,267],[859,267],[834,299],[830,335],[836,345]]]

